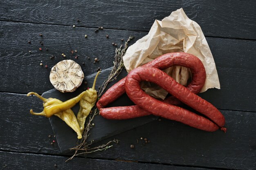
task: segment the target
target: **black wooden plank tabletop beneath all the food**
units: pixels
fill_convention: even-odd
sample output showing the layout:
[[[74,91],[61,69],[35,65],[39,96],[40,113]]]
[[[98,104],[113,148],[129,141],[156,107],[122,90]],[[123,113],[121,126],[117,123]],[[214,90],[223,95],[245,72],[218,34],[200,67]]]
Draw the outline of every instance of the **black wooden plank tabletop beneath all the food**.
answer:
[[[162,119],[111,137],[120,142],[106,151],[66,163],[70,156],[50,144],[49,120],[29,114],[31,107],[42,110],[41,102],[26,94],[53,88],[50,68],[63,60],[62,53],[90,75],[112,66],[112,42],[135,35],[134,43],[155,19],[181,7],[201,26],[216,62],[221,89],[200,96],[225,115],[227,133]],[[256,170],[255,9],[255,0],[0,1],[0,169]],[[99,26],[103,30],[95,33]],[[93,64],[94,57],[100,62]],[[141,137],[150,144],[143,145]]]

